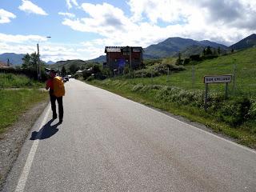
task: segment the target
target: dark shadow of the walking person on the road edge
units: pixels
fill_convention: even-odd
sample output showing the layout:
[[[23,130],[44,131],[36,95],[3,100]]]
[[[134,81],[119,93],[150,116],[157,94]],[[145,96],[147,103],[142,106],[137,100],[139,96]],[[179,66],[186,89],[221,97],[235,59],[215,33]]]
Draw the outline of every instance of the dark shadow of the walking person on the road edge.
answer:
[[[41,130],[33,131],[30,140],[46,139],[56,134],[58,132],[57,126],[59,126],[61,123],[58,122],[57,124],[51,126],[50,123],[52,122],[54,122],[53,119],[47,122],[46,125],[42,126]]]

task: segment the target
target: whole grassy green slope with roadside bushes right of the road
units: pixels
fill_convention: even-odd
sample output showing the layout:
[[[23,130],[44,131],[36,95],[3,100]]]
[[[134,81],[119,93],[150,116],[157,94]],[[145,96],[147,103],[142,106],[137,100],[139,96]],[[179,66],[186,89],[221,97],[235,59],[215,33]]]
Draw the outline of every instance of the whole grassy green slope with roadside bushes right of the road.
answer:
[[[256,49],[194,62],[185,68],[155,78],[117,77],[90,83],[200,122],[239,143],[256,148]],[[204,111],[203,77],[214,74],[234,74],[234,81],[229,85],[230,97],[224,98],[224,85],[211,84],[208,110]]]

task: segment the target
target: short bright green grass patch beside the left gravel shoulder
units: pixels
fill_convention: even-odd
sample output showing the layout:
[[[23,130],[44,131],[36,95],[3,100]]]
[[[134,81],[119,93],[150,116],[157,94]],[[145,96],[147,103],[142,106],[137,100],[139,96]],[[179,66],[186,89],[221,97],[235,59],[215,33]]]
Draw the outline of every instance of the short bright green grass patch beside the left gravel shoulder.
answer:
[[[2,134],[26,110],[46,100],[47,93],[40,90],[0,90],[0,98],[0,134]]]

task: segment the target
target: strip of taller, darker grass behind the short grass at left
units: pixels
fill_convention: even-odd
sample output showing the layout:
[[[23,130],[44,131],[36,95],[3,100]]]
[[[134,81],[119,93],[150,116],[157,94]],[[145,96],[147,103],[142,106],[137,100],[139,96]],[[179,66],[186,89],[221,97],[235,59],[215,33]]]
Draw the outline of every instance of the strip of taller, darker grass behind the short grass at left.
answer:
[[[44,87],[44,83],[36,82],[21,74],[0,73],[0,88],[39,88]]]

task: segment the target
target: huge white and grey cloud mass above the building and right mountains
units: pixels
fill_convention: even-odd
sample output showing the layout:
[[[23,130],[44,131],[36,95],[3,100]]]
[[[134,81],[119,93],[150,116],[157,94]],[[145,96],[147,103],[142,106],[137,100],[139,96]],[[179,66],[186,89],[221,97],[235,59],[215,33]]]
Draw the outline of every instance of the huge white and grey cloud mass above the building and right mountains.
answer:
[[[256,15],[253,1],[130,0],[127,3],[131,17],[108,3],[83,3],[82,10],[89,16],[64,18],[62,24],[102,35],[98,39],[102,49],[124,45],[145,47],[170,37],[209,39],[229,46],[256,30],[254,20],[249,20]],[[243,18],[238,9],[243,10]],[[230,13],[232,19],[224,13]],[[247,22],[242,22],[245,18]],[[160,22],[164,25],[160,26]],[[97,41],[91,43],[98,46]]]

